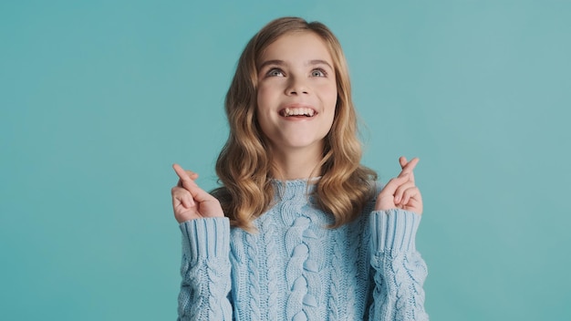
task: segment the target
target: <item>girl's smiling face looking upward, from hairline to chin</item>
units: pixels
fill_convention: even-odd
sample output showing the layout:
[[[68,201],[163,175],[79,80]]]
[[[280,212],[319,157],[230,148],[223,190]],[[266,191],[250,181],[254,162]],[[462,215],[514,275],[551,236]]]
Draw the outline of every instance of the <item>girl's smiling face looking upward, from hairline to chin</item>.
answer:
[[[326,43],[312,32],[280,36],[265,48],[258,70],[257,119],[274,150],[320,157],[337,104]]]

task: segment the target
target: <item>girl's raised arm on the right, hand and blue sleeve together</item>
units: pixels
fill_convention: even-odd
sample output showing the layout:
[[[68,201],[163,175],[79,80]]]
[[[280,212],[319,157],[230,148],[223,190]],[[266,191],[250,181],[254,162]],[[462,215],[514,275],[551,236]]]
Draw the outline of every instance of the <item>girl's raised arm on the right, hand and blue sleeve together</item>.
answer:
[[[379,193],[370,217],[370,263],[375,270],[370,320],[429,319],[422,288],[428,272],[415,245],[422,212],[412,172],[418,161],[400,158],[400,175]]]

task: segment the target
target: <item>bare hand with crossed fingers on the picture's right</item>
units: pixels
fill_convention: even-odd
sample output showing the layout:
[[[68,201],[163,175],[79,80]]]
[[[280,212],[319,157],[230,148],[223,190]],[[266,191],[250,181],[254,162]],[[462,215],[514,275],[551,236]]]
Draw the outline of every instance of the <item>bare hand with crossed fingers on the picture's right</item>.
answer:
[[[390,180],[377,197],[376,211],[387,211],[399,208],[409,212],[422,213],[422,196],[414,184],[414,167],[419,163],[418,158],[407,161],[405,157],[399,159],[399,176]]]

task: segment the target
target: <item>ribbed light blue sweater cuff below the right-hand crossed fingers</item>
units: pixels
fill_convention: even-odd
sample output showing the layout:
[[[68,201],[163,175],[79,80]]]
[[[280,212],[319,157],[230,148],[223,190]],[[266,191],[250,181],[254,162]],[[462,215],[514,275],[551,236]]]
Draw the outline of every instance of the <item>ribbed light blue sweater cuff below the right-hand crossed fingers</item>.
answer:
[[[370,216],[371,250],[374,253],[415,251],[420,215],[399,209],[372,212]]]

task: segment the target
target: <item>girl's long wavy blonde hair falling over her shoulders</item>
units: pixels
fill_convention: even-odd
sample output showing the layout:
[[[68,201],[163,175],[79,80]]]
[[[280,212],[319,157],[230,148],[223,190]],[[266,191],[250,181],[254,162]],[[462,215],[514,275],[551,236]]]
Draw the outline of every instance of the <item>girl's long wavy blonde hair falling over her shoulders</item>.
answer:
[[[337,37],[319,22],[283,17],[264,26],[246,45],[238,60],[234,79],[225,100],[230,126],[228,140],[216,161],[223,187],[213,191],[234,226],[253,230],[252,221],[274,201],[272,150],[256,119],[259,59],[277,38],[292,32],[320,36],[333,59],[337,79],[337,106],[333,125],[325,138],[321,179],[314,195],[318,206],[333,215],[336,228],[355,220],[372,199],[371,181],[377,174],[360,164],[357,113],[351,99],[348,67]]]

